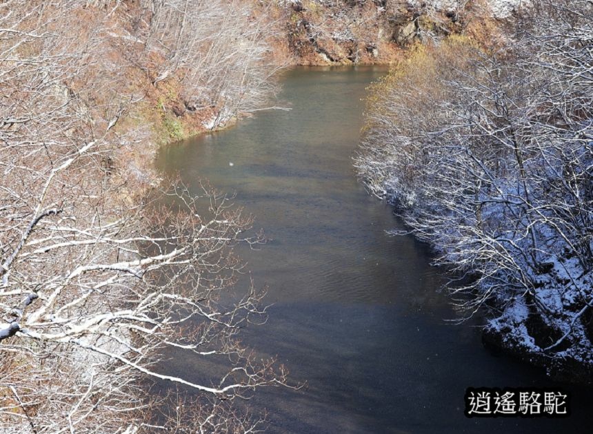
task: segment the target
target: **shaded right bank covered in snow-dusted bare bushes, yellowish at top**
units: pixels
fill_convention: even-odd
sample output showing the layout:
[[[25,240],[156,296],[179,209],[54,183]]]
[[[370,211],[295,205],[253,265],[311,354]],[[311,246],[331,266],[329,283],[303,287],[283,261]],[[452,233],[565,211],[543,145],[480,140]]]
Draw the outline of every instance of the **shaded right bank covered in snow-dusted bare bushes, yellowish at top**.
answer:
[[[394,68],[368,99],[356,166],[465,277],[450,292],[462,318],[485,311],[485,340],[591,384],[591,11],[545,4],[498,50],[454,36]]]

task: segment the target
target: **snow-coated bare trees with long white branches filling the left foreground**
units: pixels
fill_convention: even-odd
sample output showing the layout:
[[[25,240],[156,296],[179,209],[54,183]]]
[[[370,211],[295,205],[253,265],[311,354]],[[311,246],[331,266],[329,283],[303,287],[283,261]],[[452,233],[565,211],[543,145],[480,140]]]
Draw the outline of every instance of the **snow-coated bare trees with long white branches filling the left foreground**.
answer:
[[[0,431],[250,432],[261,416],[234,398],[285,375],[237,335],[265,319],[265,291],[225,290],[232,247],[261,236],[206,186],[132,196],[148,185],[121,161],[142,137],[119,127],[138,99],[123,12],[87,3],[0,5]],[[218,369],[172,373],[179,349]]]

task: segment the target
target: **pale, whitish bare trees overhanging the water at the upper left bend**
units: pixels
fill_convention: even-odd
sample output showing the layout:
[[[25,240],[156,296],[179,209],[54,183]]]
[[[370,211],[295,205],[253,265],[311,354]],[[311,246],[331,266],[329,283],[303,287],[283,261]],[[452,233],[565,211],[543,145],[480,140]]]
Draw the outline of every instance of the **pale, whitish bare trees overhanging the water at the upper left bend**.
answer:
[[[241,1],[147,1],[145,62],[153,83],[171,76],[183,87],[185,110],[210,110],[212,130],[259,110],[275,91],[269,39],[274,21],[266,10]],[[156,54],[156,56],[155,56]]]

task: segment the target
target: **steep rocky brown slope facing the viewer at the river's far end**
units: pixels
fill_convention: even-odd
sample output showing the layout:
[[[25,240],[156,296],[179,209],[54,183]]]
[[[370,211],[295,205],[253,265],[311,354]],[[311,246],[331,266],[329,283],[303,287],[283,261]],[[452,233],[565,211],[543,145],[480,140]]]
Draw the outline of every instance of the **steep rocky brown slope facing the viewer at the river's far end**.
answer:
[[[279,0],[277,16],[285,32],[279,43],[301,65],[392,63],[408,45],[448,34],[488,40],[498,22],[516,14],[521,3]]]

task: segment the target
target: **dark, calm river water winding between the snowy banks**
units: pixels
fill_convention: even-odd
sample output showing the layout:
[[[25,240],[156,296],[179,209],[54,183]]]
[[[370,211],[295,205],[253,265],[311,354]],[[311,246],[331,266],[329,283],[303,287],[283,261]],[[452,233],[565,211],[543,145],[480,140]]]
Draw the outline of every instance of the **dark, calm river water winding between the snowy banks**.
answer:
[[[283,80],[290,112],[261,112],[225,132],[165,147],[157,166],[198,188],[236,192],[272,240],[241,250],[273,302],[245,341],[278,355],[301,391],[266,389],[270,433],[592,433],[590,391],[565,420],[469,420],[468,386],[546,386],[541,373],[486,351],[454,325],[427,249],[385,230],[390,207],[356,182],[365,87],[383,68],[297,68]],[[232,163],[232,165],[230,165]],[[191,360],[177,369],[199,369]]]

